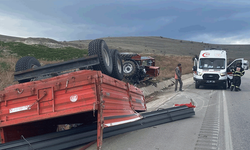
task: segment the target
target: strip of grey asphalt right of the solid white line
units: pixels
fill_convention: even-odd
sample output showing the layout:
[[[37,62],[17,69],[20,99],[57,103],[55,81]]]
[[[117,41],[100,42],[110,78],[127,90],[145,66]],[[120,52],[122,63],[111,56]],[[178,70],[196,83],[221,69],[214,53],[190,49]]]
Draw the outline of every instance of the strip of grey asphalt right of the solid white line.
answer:
[[[226,91],[234,150],[250,149],[250,70],[242,77],[242,91]]]

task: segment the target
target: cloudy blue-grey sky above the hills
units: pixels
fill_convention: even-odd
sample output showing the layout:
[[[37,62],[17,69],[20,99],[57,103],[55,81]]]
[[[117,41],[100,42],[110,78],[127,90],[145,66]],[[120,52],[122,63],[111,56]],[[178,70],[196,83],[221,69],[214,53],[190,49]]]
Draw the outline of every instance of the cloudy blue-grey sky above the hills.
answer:
[[[250,44],[250,0],[0,0],[0,34]]]

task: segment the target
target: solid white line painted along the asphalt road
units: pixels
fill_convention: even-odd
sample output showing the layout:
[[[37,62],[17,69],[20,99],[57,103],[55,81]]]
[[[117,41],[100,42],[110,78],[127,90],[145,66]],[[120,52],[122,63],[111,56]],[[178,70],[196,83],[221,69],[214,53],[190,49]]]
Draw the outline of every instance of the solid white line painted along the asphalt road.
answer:
[[[227,110],[227,101],[224,90],[222,91],[222,94],[223,94],[223,108],[224,108],[225,148],[226,150],[233,150],[230,122]]]

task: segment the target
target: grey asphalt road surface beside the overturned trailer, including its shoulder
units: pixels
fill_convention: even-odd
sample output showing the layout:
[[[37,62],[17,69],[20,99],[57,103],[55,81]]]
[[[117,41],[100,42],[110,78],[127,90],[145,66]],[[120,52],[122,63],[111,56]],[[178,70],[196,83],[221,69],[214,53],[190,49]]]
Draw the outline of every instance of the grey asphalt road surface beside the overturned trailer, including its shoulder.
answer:
[[[195,89],[192,78],[183,82],[183,92],[163,90],[148,110],[192,99],[195,116],[104,139],[102,150],[249,150],[250,71],[242,78],[240,92],[214,86]],[[87,150],[95,149],[96,144]]]

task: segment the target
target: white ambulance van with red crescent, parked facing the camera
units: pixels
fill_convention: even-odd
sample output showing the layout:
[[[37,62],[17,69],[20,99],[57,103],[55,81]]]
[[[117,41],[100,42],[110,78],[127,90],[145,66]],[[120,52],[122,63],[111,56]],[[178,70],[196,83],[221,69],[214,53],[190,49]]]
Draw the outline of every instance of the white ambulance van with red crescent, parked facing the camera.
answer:
[[[194,59],[195,88],[200,85],[217,85],[227,88],[227,53],[225,50],[202,50]]]

